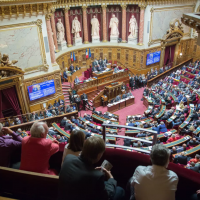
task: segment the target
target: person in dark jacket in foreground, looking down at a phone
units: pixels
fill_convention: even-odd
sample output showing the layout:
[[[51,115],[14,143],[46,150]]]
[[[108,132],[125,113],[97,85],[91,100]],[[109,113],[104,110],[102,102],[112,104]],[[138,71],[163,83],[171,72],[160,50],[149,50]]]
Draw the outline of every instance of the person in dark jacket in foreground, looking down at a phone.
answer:
[[[110,171],[94,168],[105,151],[105,142],[89,137],[79,157],[68,154],[59,176],[58,200],[122,200],[125,192],[117,187]],[[103,171],[103,172],[102,172]],[[105,182],[106,178],[106,182]]]

